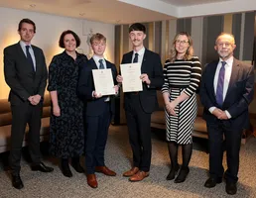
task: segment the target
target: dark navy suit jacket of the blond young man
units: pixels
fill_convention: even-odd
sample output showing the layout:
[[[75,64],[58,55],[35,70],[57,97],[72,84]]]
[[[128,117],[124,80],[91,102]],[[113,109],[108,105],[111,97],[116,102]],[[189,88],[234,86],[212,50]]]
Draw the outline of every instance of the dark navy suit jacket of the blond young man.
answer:
[[[116,67],[113,63],[106,61],[107,68],[111,68],[114,84],[116,82]],[[92,91],[95,90],[92,69],[98,69],[93,58],[90,58],[86,64],[84,64],[80,70],[77,92],[78,95],[83,99],[85,105],[86,116],[99,116],[103,113],[103,105],[106,97],[93,98]],[[114,113],[114,96],[110,96],[111,112]]]

